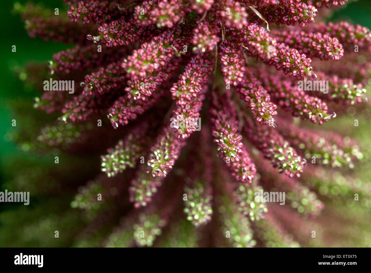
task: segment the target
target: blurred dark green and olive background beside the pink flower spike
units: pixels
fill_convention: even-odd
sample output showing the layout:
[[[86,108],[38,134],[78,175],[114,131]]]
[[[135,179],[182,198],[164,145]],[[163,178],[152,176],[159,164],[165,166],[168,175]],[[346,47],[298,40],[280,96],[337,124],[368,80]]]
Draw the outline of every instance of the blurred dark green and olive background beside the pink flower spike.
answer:
[[[27,1],[19,1],[24,4]],[[34,1],[38,3],[38,1]],[[54,9],[59,7],[62,10],[62,0],[39,1],[46,7]],[[24,30],[23,22],[17,14],[12,13],[14,2],[3,1],[1,3],[0,18],[2,28],[0,33],[1,48],[1,85],[0,85],[0,191],[34,191],[30,205],[24,206],[20,203],[0,204],[0,247],[37,247],[37,246],[85,246],[83,242],[76,243],[74,238],[79,234],[79,225],[83,226],[85,220],[76,209],[71,209],[70,203],[73,200],[77,188],[73,181],[77,176],[85,175],[85,180],[93,178],[95,173],[81,173],[84,164],[96,165],[99,171],[99,158],[83,160],[68,159],[70,164],[76,167],[75,173],[55,172],[60,181],[65,181],[69,191],[64,191],[63,185],[58,186],[58,179],[53,178],[50,172],[55,169],[54,156],[56,154],[36,154],[32,152],[30,139],[38,134],[37,128],[45,124],[45,120],[53,121],[56,116],[46,116],[45,113],[33,109],[33,98],[40,95],[40,92],[24,85],[21,81],[25,77],[19,72],[22,65],[29,61],[47,62],[52,58],[54,52],[73,45],[62,43],[45,42],[41,39],[31,39]],[[60,13],[63,16],[63,11]],[[339,10],[332,15],[332,21],[347,20],[351,23],[359,23],[371,28],[371,3],[370,0],[359,0],[349,3],[346,8]],[[12,52],[12,45],[16,45],[16,52]],[[371,89],[368,88],[367,96],[370,96]],[[16,109],[16,111],[14,111]],[[371,177],[371,121],[370,110],[365,107],[356,110],[353,107],[348,109],[347,117],[337,117],[331,122],[323,125],[323,129],[338,131],[356,139],[364,153],[364,159],[357,162],[352,176],[356,176],[364,182],[370,182]],[[354,127],[354,119],[359,120],[359,127]],[[12,120],[16,119],[17,126],[12,127]],[[36,128],[36,129],[35,129]],[[22,132],[16,135],[16,132]],[[16,140],[15,143],[12,140]],[[85,155],[88,157],[89,155]],[[62,160],[61,160],[62,161]],[[59,165],[63,169],[63,164]],[[81,168],[80,168],[81,167]],[[64,175],[64,176],[63,176]],[[42,181],[40,181],[42,177]],[[55,189],[53,194],[47,190],[48,187]],[[47,192],[43,194],[43,192]],[[58,198],[56,197],[58,196]],[[338,240],[323,241],[322,246],[371,246],[370,233],[365,230],[370,227],[371,212],[358,211],[355,207],[347,207],[345,204],[333,204],[339,208],[339,219],[343,222],[328,223],[334,225]],[[353,211],[342,211],[352,209]],[[327,209],[327,208],[326,208]],[[318,218],[318,224],[326,221],[326,209]],[[343,213],[344,212],[344,213]],[[353,218],[347,218],[353,215]],[[342,228],[339,229],[339,225]],[[336,228],[335,228],[336,226]],[[54,239],[54,231],[61,227],[69,230],[68,233],[61,233],[59,240]],[[76,228],[75,228],[76,227]],[[331,231],[329,231],[331,232]],[[52,234],[50,234],[52,233]],[[104,232],[101,235],[104,236]],[[324,234],[324,237],[326,235]],[[99,240],[97,240],[99,241]],[[86,244],[94,246],[94,244]]]

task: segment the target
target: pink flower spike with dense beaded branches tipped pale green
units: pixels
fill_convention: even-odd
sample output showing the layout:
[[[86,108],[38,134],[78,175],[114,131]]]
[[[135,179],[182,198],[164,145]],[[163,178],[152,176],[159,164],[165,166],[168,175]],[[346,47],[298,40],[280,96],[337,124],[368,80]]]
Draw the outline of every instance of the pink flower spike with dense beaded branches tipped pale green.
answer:
[[[94,168],[73,179],[74,246],[322,246],[307,219],[354,194],[370,209],[370,185],[336,175],[361,147],[321,128],[367,104],[370,30],[326,22],[348,1],[64,2],[14,10],[30,37],[73,44],[18,73],[40,92],[76,84],[35,98],[48,120],[32,144],[95,156],[74,162]]]

